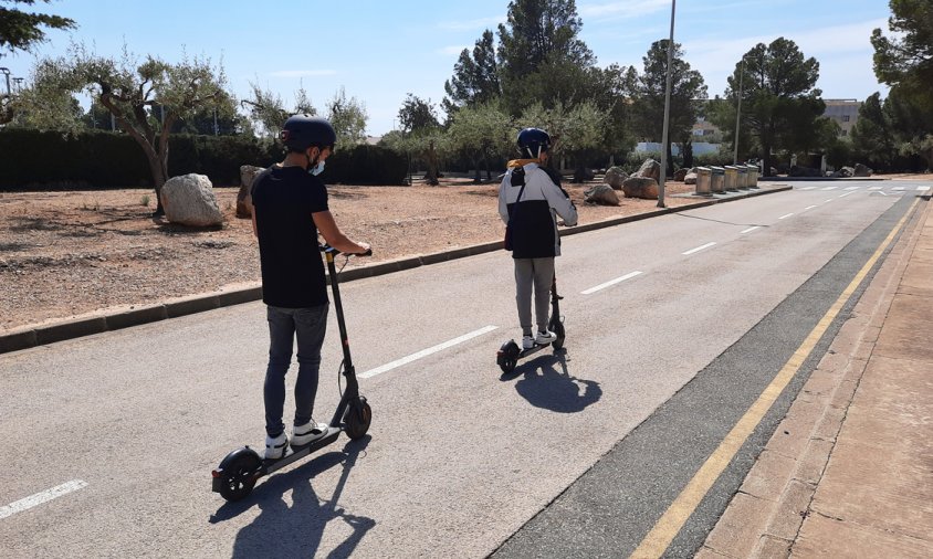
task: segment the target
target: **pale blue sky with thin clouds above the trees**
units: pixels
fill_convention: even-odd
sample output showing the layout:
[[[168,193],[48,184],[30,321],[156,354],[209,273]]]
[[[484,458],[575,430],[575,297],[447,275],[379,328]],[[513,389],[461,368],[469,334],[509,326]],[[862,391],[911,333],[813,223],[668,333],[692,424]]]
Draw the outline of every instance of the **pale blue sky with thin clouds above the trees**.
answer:
[[[398,126],[408,93],[440,106],[460,52],[472,50],[485,29],[495,31],[505,22],[509,1],[53,0],[13,6],[77,23],[72,31],[48,31],[48,41],[32,52],[0,57],[0,66],[27,83],[36,60],[64,55],[74,43],[116,59],[124,46],[140,60],[151,54],[171,63],[197,55],[222,64],[238,98],[249,98],[254,83],[277,93],[286,109],[304,87],[323,114],[344,87],[347,97],[366,106],[367,133],[379,136]],[[579,38],[601,67],[633,65],[641,73],[651,43],[670,34],[671,0],[577,0],[576,6],[583,20]],[[784,36],[819,62],[817,87],[824,98],[864,101],[874,92],[887,95],[872,72],[869,38],[876,28],[888,32],[890,14],[888,0],[680,0],[674,41],[703,75],[710,97],[723,95],[726,77],[745,52]]]

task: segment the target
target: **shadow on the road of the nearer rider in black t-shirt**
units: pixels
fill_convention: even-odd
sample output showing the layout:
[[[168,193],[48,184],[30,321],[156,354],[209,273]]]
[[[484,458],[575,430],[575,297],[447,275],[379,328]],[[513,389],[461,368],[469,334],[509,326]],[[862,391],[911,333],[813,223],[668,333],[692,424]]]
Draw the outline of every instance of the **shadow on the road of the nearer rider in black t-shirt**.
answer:
[[[260,508],[260,514],[249,526],[244,526],[238,534],[233,544],[233,558],[252,557],[316,557],[325,555],[321,552],[321,539],[324,530],[332,520],[343,520],[352,530],[349,537],[336,548],[326,553],[326,557],[343,558],[349,557],[366,532],[376,526],[376,520],[363,516],[348,514],[337,506],[340,494],[349,477],[350,470],[356,464],[357,457],[365,451],[370,441],[367,435],[359,441],[350,441],[344,447],[344,452],[331,452],[323,454],[312,462],[284,474],[277,474],[258,487],[253,499]],[[340,478],[334,488],[329,500],[323,500],[314,491],[312,481],[302,478],[308,473],[314,473],[333,467],[343,463]],[[290,507],[283,494],[292,489],[292,506]],[[248,500],[250,497],[248,497]],[[222,516],[237,516],[247,506],[228,504],[231,508],[226,514],[223,507],[216,515],[217,519]],[[228,505],[224,505],[228,506]],[[212,521],[214,521],[212,519]]]

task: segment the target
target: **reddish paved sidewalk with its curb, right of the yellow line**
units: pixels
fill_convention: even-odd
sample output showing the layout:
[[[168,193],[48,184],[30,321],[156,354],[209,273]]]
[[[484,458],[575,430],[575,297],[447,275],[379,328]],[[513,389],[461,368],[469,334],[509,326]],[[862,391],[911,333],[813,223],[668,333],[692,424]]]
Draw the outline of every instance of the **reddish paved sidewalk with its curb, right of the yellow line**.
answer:
[[[915,211],[696,557],[933,557],[930,197]]]

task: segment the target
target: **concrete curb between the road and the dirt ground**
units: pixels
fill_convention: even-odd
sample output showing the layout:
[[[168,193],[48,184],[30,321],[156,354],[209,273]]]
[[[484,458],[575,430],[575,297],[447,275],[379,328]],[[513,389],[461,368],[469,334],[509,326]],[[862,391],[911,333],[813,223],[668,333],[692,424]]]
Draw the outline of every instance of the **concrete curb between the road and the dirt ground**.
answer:
[[[743,200],[756,196],[770,194],[775,192],[783,192],[792,190],[793,187],[775,187],[767,189],[751,189],[738,192],[727,192],[727,197],[702,199],[702,201],[677,208],[661,208],[654,211],[638,213],[635,215],[626,215],[623,218],[611,218],[608,220],[597,221],[595,223],[587,223],[575,228],[566,229],[560,232],[562,236],[575,235],[585,233],[587,231],[595,231],[597,229],[605,229],[622,223],[630,223],[632,221],[640,221],[658,215],[665,215],[668,213],[682,212],[686,210],[694,210],[696,208],[704,208],[722,202],[730,202],[732,200]],[[488,252],[501,251],[502,242],[495,241],[491,243],[476,244],[461,249],[453,249],[432,254],[424,254],[419,256],[411,256],[399,259],[389,262],[380,262],[370,266],[363,266],[350,268],[340,273],[342,282],[352,282],[354,280],[361,280],[365,277],[375,277],[394,272],[401,272],[430,264],[438,264],[440,262],[448,262],[451,260],[463,259],[466,256],[475,256]],[[55,341],[63,341],[66,339],[80,338],[82,336],[91,336],[93,334],[101,334],[104,331],[118,330],[128,328],[130,326],[139,326],[157,320],[165,320],[168,318],[177,318],[193,313],[201,313],[205,310],[213,310],[216,308],[226,307],[230,305],[239,305],[242,303],[251,303],[253,300],[262,299],[262,286],[250,286],[242,289],[230,292],[220,292],[211,294],[198,294],[178,299],[172,299],[164,304],[143,306],[133,308],[130,310],[111,312],[104,310],[103,315],[91,315],[78,318],[71,318],[67,320],[56,321],[52,324],[27,326],[14,329],[8,334],[0,336],[0,354],[10,351],[18,351],[21,349],[29,349],[36,346],[44,346]]]

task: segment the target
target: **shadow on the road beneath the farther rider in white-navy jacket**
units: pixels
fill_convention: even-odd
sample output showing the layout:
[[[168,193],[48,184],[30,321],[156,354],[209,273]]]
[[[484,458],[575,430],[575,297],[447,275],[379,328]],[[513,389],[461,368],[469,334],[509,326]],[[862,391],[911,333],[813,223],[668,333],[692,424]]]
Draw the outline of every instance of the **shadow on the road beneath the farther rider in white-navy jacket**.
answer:
[[[599,382],[578,379],[569,373],[566,349],[535,358],[515,371],[522,375],[515,390],[536,408],[577,413],[602,397]]]

